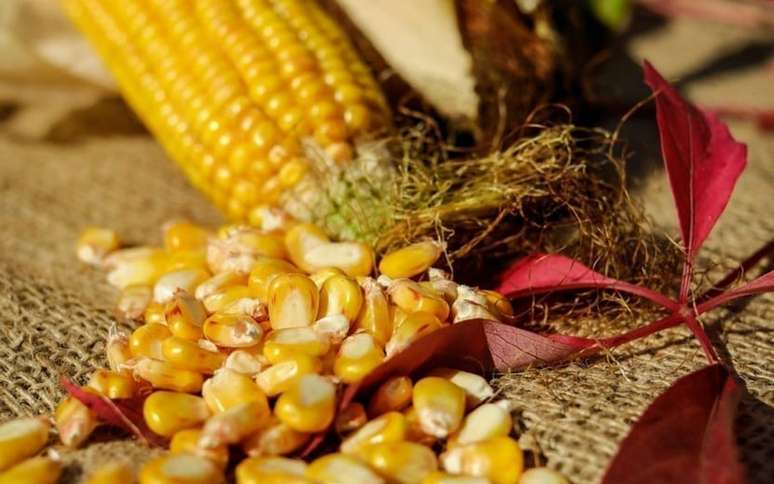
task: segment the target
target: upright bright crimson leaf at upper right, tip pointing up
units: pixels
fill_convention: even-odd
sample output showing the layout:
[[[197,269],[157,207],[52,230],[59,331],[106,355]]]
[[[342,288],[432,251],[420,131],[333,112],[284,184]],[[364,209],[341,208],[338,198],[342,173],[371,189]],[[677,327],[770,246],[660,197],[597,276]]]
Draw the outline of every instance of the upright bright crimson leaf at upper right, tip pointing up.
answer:
[[[731,197],[747,147],[714,114],[683,100],[647,61],[644,70],[645,83],[656,94],[661,153],[691,261]]]

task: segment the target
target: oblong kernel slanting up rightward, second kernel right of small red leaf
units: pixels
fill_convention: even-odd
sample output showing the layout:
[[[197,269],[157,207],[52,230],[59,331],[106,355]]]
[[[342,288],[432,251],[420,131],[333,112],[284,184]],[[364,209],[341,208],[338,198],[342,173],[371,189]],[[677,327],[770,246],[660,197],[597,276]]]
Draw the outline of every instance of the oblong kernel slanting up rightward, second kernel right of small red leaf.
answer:
[[[236,444],[270,421],[271,413],[265,401],[248,400],[210,417],[202,428],[199,447],[214,449]]]

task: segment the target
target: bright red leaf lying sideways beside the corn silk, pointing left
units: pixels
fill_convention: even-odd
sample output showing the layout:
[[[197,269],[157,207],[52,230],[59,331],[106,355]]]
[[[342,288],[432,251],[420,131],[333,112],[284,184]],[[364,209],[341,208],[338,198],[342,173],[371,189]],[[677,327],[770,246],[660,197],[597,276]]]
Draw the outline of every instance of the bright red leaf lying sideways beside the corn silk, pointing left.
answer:
[[[505,271],[497,288],[509,297],[571,289],[611,289],[650,299],[673,311],[680,307],[663,294],[611,279],[575,259],[556,254],[536,254],[516,261]]]

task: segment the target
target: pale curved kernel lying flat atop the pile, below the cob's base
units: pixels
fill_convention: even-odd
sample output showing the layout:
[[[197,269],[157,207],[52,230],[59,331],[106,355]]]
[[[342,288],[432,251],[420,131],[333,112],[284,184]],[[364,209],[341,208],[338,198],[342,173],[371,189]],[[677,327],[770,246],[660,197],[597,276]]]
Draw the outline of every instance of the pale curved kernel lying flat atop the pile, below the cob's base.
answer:
[[[360,242],[329,242],[308,250],[303,254],[303,264],[296,265],[309,272],[336,267],[350,277],[367,276],[373,269],[374,251]]]

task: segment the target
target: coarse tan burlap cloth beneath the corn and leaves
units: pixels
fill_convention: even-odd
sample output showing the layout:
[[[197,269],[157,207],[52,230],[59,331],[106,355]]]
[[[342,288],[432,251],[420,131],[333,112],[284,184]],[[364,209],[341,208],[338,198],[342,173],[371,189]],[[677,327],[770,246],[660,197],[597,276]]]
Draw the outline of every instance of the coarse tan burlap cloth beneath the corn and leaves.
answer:
[[[634,50],[677,75],[709,55],[707,43],[737,42],[729,32],[680,23],[635,43]],[[695,55],[681,55],[678,62],[673,54],[681,49]],[[774,105],[765,78],[742,72],[721,81],[699,83],[690,92],[710,103],[754,105],[768,94]],[[750,144],[750,167],[708,242],[703,266],[713,274],[774,236],[774,139],[749,125],[732,126]],[[673,209],[662,173],[646,180],[640,195],[659,221],[670,223]],[[79,231],[105,225],[130,241],[157,242],[156,228],[179,216],[208,224],[221,220],[120,102],[83,86],[0,83],[0,417],[50,412],[62,395],[60,375],[83,382],[104,365],[116,294],[103,273],[75,259]],[[705,320],[724,359],[750,389],[738,425],[754,483],[774,476],[772,302],[772,296],[759,297]],[[539,448],[573,482],[590,483],[598,481],[647,404],[702,363],[687,331],[677,329],[606,358],[506,375],[497,383],[520,409],[522,442]],[[106,460],[139,465],[149,453],[120,441],[63,455],[72,464],[63,481],[80,482]]]

